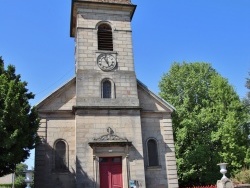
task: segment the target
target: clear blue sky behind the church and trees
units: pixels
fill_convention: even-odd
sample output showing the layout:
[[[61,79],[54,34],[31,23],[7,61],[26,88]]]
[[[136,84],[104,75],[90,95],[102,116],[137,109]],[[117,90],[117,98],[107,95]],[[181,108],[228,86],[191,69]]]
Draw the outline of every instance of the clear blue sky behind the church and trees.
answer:
[[[159,92],[173,62],[206,62],[246,96],[249,0],[132,0],[137,78]],[[71,0],[0,0],[0,56],[28,82],[36,105],[74,77]],[[27,161],[34,166],[34,152]]]

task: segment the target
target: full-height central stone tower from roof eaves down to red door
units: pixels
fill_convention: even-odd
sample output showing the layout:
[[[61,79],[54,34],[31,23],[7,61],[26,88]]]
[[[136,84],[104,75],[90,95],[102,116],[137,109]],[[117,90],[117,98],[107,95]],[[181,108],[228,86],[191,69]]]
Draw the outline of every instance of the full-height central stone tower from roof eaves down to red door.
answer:
[[[128,187],[131,179],[145,187],[132,49],[135,9],[130,0],[72,1],[77,187]]]

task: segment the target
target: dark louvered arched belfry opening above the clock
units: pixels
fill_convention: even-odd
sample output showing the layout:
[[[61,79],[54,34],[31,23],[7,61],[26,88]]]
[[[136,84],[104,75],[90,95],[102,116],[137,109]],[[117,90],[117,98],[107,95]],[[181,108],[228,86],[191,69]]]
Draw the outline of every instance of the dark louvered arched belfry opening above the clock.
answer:
[[[98,27],[98,50],[113,51],[113,34],[108,24],[101,24]]]

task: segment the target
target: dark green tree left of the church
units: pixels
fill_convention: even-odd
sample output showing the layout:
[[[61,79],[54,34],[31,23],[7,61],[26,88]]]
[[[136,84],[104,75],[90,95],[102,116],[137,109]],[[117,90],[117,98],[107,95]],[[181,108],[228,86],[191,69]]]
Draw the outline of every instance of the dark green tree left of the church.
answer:
[[[0,57],[0,177],[14,172],[39,141],[39,118],[29,104],[34,95],[26,86],[14,66],[5,70]]]

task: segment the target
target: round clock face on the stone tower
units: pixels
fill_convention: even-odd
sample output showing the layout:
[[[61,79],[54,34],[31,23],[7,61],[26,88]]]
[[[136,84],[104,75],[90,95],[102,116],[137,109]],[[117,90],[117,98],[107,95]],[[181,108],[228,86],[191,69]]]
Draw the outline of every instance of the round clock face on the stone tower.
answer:
[[[103,71],[110,71],[116,66],[116,58],[111,54],[100,54],[97,57],[97,65]]]

